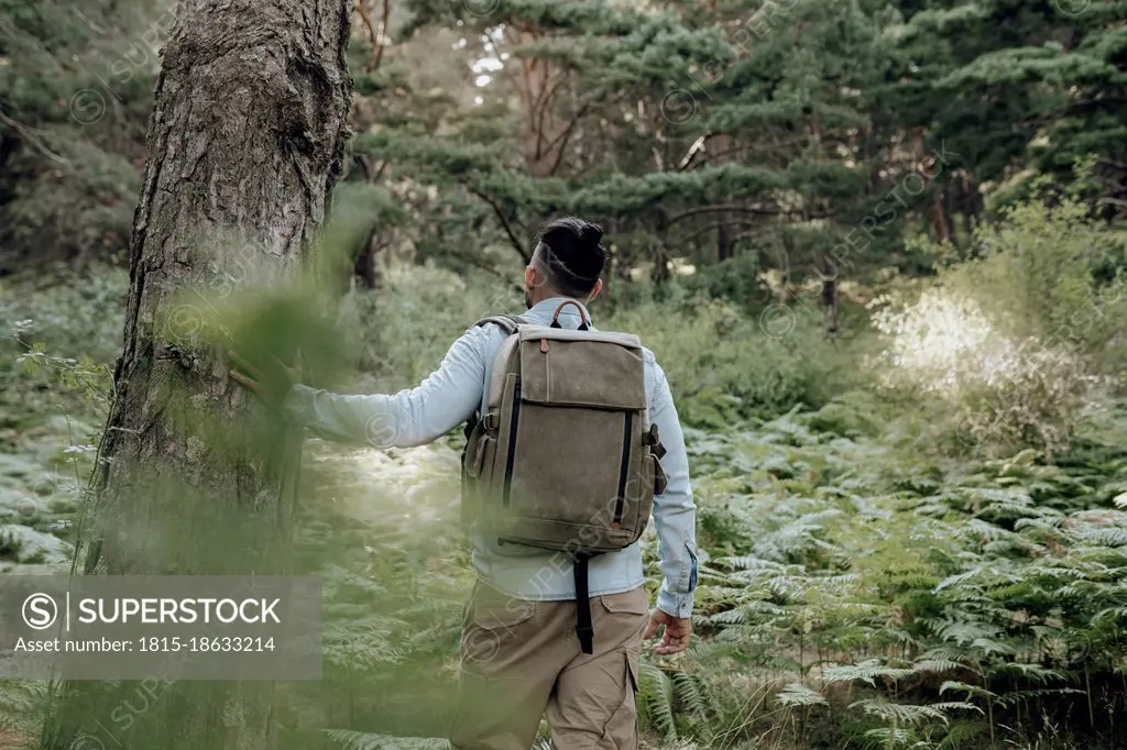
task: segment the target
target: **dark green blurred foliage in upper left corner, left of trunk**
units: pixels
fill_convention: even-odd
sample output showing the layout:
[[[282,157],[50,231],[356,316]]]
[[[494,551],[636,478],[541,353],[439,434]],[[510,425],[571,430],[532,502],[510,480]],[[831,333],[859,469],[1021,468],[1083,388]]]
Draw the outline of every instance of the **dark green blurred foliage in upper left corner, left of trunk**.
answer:
[[[3,273],[83,267],[126,248],[165,6],[0,2]]]

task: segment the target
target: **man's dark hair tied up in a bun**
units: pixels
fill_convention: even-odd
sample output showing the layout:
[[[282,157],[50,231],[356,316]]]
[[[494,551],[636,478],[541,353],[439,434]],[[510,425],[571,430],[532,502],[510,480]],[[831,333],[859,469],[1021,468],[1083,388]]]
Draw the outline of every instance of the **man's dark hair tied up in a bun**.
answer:
[[[544,224],[536,234],[535,255],[549,284],[569,297],[591,294],[606,265],[602,239],[602,226],[575,216]]]

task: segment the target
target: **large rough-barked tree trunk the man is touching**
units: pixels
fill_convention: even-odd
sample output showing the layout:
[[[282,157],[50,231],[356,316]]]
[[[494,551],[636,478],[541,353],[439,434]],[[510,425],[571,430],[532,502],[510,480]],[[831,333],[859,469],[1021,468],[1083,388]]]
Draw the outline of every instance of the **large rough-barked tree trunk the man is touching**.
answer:
[[[248,439],[279,426],[199,336],[205,297],[184,294],[222,295],[233,277],[230,294],[248,266],[290,276],[318,240],[347,137],[350,10],[350,0],[179,2],[149,125],[94,523],[79,530],[87,573],[287,572],[300,437],[268,449]],[[269,681],[157,690],[63,684],[41,748],[277,747]]]

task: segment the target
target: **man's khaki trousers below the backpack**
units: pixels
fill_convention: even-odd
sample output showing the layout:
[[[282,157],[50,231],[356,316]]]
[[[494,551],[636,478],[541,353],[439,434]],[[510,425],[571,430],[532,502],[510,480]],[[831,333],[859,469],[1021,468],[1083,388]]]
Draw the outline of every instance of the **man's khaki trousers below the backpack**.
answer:
[[[594,653],[575,601],[513,599],[478,582],[462,622],[455,750],[529,750],[547,714],[559,750],[637,750],[641,587],[591,599]]]

